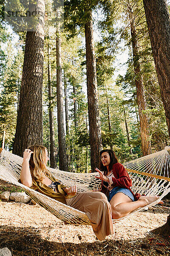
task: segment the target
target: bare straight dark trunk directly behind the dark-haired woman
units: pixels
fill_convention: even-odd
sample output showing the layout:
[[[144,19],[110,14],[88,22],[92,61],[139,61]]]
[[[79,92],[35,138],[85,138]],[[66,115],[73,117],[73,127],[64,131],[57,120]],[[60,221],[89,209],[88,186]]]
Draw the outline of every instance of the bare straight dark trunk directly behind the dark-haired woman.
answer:
[[[87,67],[87,94],[88,94],[88,119],[89,137],[91,146],[91,170],[99,167],[100,154],[102,149],[99,100],[96,79],[96,58],[94,52],[93,22],[92,15],[85,23],[85,46],[86,46],[86,67]]]

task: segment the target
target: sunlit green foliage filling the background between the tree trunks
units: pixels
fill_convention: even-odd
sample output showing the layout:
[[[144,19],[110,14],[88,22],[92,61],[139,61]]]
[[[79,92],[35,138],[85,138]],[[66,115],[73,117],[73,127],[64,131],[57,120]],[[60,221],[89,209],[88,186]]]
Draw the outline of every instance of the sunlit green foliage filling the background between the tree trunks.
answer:
[[[161,102],[150,40],[142,0],[127,1],[75,1],[65,0],[65,31],[62,37],[62,68],[68,90],[69,133],[66,135],[70,171],[87,172],[90,167],[88,105],[86,99],[84,26],[93,14],[99,41],[95,42],[96,73],[99,93],[99,113],[103,148],[113,148],[121,162],[142,156],[138,105],[133,61],[139,61],[140,78],[144,83],[153,150],[161,150],[170,143],[164,108]],[[20,36],[20,47],[11,44],[3,20],[3,3],[0,2],[0,143],[6,131],[6,148],[12,148],[17,117],[17,103],[22,77],[25,33]],[[130,16],[136,29],[138,55],[133,59],[130,33]],[[96,18],[98,15],[99,19]],[[54,20],[46,22],[43,75],[43,140],[50,148],[48,114],[48,45],[51,60],[51,85],[53,90],[54,133],[56,161],[58,163],[57,92],[56,92],[56,28]],[[49,31],[49,32],[48,32]],[[125,76],[113,79],[116,54],[129,49]],[[17,53],[16,53],[17,52]],[[75,108],[76,105],[76,108]],[[64,108],[65,110],[65,108]],[[109,116],[110,112],[110,128]],[[65,116],[65,114],[64,114]],[[75,119],[77,125],[75,126]],[[127,127],[126,127],[127,125]],[[129,139],[127,136],[127,130]],[[132,154],[131,154],[132,152]]]

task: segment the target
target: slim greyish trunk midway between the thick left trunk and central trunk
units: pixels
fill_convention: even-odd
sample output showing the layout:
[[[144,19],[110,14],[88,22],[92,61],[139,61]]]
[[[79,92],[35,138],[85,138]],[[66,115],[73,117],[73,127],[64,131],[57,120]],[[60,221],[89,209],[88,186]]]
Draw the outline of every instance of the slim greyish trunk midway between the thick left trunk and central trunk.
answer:
[[[57,51],[57,121],[58,121],[58,144],[59,144],[59,169],[68,171],[68,157],[66,154],[64,113],[62,98],[62,64],[61,64],[61,37],[59,30],[56,32]]]

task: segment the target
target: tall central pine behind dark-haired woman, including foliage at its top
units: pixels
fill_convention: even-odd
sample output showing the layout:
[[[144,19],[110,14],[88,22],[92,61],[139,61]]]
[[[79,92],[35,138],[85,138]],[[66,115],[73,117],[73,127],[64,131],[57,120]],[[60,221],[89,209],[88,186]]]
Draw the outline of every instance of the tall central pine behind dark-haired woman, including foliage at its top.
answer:
[[[91,169],[93,172],[96,167],[99,167],[99,152],[102,148],[92,22],[92,9],[95,8],[96,4],[97,1],[80,1],[77,3],[74,1],[65,1],[67,28],[73,33],[76,32],[77,26],[84,27],[85,29],[89,137],[91,146]]]

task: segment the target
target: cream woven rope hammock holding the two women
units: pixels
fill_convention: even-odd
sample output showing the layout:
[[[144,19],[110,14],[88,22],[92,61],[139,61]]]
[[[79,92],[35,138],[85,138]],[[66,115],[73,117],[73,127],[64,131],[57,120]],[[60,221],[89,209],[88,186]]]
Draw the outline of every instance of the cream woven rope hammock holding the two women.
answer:
[[[159,201],[170,192],[170,154],[167,150],[170,150],[170,147],[165,147],[162,151],[123,164],[132,179],[133,185],[131,189],[134,193],[138,192],[141,195],[160,196],[160,198],[153,203],[138,208],[129,215],[134,212],[139,212],[148,206],[158,204]],[[0,179],[22,187],[36,203],[40,204],[40,206],[47,209],[60,220],[65,221],[65,223],[91,225],[91,222],[84,212],[62,204],[19,183],[17,180],[20,177],[22,163],[22,157],[11,154],[0,148]],[[64,185],[69,186],[71,183],[75,183],[78,192],[90,192],[101,184],[101,181],[95,178],[98,173],[73,173],[52,168],[48,169],[51,174]],[[126,217],[127,216],[113,220],[113,223],[117,223]]]

